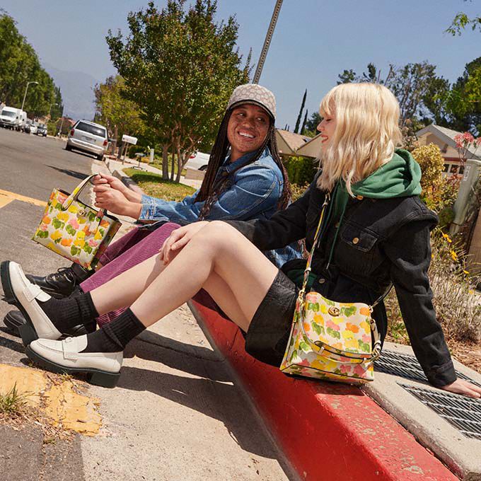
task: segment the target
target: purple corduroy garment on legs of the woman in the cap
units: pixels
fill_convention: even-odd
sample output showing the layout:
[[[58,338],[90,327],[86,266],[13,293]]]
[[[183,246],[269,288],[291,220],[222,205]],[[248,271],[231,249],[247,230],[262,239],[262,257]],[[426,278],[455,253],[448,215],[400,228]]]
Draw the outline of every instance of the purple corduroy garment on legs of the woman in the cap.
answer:
[[[168,222],[154,231],[134,228],[132,231],[127,232],[115,243],[109,245],[100,258],[100,263],[103,267],[100,267],[98,272],[95,272],[86,281],[83,281],[80,284],[81,289],[83,292],[93,291],[93,289],[105,284],[105,282],[109,282],[114,277],[122,274],[122,272],[156,255],[168,236],[170,236],[170,233],[179,227],[179,224]],[[125,308],[100,315],[97,318],[98,325],[102,326],[105,323],[110,323],[123,311],[125,311]]]

